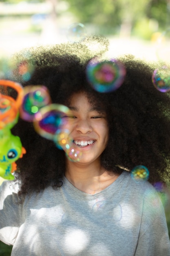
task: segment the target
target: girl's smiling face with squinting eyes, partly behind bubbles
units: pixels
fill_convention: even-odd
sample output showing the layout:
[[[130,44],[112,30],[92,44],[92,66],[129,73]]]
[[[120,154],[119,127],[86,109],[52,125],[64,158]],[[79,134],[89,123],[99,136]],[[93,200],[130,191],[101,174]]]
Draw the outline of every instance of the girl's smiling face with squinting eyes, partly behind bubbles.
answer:
[[[82,154],[79,164],[99,162],[108,141],[106,113],[92,106],[83,92],[73,94],[68,108],[64,128],[69,130],[71,148]]]

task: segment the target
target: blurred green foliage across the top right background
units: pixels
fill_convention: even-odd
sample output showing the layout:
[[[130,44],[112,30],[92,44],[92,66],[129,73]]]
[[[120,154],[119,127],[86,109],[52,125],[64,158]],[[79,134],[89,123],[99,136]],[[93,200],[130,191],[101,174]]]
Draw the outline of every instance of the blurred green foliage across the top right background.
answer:
[[[164,31],[170,24],[169,0],[0,0],[6,4],[50,2],[56,17],[61,15],[61,2],[67,3],[63,13],[104,35],[128,34],[150,40],[152,34]],[[123,32],[123,33],[122,33]]]

